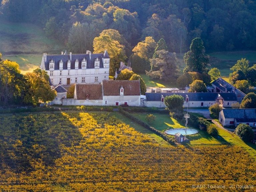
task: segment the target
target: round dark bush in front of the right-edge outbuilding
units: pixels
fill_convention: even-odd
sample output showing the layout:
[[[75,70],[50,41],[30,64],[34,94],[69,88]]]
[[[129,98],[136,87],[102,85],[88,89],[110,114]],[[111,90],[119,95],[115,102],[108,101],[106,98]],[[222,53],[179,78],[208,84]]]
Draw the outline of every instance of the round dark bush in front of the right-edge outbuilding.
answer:
[[[254,131],[249,125],[239,124],[236,127],[235,132],[245,142],[252,141],[254,139]]]

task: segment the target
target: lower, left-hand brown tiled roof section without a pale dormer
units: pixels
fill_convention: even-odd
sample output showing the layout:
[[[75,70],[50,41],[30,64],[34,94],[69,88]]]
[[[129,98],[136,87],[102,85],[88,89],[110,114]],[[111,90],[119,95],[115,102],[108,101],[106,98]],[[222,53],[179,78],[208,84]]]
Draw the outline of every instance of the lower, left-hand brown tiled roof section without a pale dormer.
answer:
[[[87,95],[89,100],[101,100],[102,84],[76,84],[77,100],[86,100]]]

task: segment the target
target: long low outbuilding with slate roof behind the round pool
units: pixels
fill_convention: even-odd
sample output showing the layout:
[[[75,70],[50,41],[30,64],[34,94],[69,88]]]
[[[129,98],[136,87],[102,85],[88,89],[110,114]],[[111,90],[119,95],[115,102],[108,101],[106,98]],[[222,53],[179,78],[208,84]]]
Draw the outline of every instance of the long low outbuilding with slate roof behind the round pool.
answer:
[[[164,98],[174,94],[184,98],[184,107],[209,107],[214,103],[230,107],[232,103],[237,102],[235,93],[146,93],[145,105],[165,108]]]

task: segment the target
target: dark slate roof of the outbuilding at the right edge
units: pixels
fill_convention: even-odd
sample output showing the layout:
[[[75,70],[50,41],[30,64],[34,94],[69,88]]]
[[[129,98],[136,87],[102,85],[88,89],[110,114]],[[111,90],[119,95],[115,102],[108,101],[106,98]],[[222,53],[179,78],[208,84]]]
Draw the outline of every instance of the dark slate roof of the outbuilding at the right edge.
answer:
[[[256,109],[222,109],[225,118],[254,119]]]

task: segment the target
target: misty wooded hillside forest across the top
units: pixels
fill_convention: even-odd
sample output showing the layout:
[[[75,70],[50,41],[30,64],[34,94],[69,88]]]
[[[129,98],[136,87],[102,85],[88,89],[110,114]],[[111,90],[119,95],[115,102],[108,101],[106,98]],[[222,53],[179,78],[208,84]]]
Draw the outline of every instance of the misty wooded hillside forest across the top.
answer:
[[[187,51],[195,37],[203,40],[207,50],[256,48],[256,2],[252,0],[0,2],[2,17],[13,22],[37,23],[48,36],[69,45],[77,53],[92,50],[94,37],[105,29],[115,29],[122,35],[127,57],[132,54],[132,47],[148,36],[155,42],[164,38],[170,52]],[[78,40],[79,35],[83,38]]]

